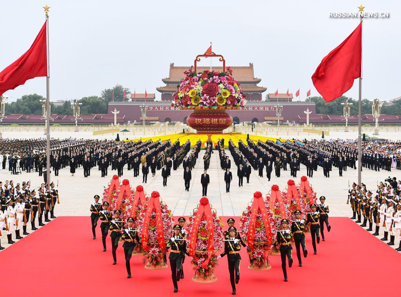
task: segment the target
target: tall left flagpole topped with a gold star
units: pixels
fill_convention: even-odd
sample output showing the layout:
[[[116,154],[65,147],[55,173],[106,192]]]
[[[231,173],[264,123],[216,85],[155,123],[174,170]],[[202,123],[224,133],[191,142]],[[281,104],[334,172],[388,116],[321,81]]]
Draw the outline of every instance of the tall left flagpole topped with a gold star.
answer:
[[[46,174],[47,182],[50,184],[50,59],[49,59],[49,8],[44,7],[46,14],[46,40],[47,40],[47,77],[46,77]]]

